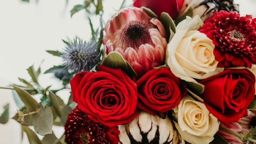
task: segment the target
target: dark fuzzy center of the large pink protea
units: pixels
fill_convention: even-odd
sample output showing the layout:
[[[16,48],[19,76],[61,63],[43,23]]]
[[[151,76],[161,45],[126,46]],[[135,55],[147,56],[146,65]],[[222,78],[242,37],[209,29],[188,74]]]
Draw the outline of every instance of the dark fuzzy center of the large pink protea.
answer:
[[[120,29],[117,39],[114,42],[114,47],[120,47],[122,49],[132,47],[137,51],[140,45],[154,45],[149,33],[149,29],[151,28],[154,28],[152,23],[128,22]]]

